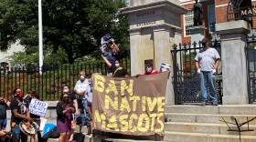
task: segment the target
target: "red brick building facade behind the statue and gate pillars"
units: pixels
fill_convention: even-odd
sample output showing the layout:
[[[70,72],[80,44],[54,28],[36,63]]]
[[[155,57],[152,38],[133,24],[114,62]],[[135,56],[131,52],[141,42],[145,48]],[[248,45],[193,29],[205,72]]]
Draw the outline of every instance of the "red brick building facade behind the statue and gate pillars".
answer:
[[[206,27],[204,36],[209,39],[215,38],[215,25],[237,20],[238,18],[249,22],[251,29],[256,28],[256,0],[198,0],[203,9],[203,26]],[[187,28],[193,26],[193,5],[195,0],[180,0],[180,5],[187,8],[189,11],[186,15],[181,15],[183,29],[182,43],[193,42],[191,41],[191,32]],[[240,10],[237,13],[233,11],[231,4],[236,3],[240,5]],[[239,17],[241,16],[241,17]]]

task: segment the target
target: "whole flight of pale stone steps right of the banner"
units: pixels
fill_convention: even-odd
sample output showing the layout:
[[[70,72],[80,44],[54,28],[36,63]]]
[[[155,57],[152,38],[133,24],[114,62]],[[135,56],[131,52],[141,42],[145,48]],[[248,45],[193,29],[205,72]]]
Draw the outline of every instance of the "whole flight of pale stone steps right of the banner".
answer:
[[[229,127],[237,129],[235,123],[246,122],[256,117],[256,105],[244,106],[165,106],[165,141],[172,142],[239,142],[239,132],[227,131]],[[223,117],[223,119],[222,119]],[[256,141],[256,119],[249,123],[254,131],[241,132],[242,142]],[[247,129],[244,125],[241,129]]]

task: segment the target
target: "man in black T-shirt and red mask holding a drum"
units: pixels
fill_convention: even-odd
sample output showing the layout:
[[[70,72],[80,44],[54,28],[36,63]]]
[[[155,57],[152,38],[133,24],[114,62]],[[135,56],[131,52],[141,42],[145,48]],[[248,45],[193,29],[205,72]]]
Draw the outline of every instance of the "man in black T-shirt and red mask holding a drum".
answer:
[[[14,90],[14,97],[11,101],[10,108],[12,112],[11,117],[11,131],[13,134],[13,140],[27,142],[27,135],[25,135],[19,128],[19,123],[23,120],[27,123],[31,122],[29,115],[28,104],[22,98],[23,94],[20,88]]]

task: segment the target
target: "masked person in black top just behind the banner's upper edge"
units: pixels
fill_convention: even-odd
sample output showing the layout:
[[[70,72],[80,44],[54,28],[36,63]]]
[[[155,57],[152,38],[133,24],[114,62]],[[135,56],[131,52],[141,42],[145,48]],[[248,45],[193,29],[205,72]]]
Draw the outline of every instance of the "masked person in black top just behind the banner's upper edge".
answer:
[[[102,56],[102,55],[101,55]],[[102,56],[107,66],[110,66],[112,68],[112,76],[114,77],[127,77],[128,73],[123,66],[121,66],[120,62],[118,60],[115,60],[114,65],[112,65],[111,62],[108,61],[108,59],[104,56]]]

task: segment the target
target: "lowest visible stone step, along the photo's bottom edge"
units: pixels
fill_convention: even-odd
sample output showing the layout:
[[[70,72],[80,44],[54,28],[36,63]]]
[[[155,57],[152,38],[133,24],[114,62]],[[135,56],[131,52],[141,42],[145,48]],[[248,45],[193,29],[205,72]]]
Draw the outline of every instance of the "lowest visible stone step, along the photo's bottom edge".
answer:
[[[235,135],[202,134],[165,131],[165,141],[169,142],[240,142]],[[241,142],[255,142],[255,136],[241,136]]]

